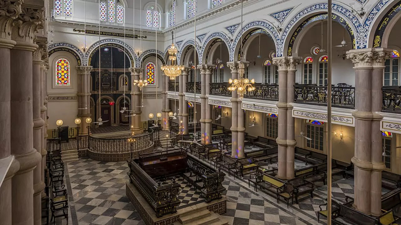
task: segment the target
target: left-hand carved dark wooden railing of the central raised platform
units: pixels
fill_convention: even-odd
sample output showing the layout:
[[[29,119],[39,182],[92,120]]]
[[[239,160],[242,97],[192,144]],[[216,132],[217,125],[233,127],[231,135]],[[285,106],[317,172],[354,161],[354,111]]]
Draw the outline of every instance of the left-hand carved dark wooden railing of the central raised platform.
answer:
[[[161,185],[145,173],[135,161],[131,160],[128,165],[130,167],[128,173],[130,183],[135,185],[142,197],[156,212],[156,217],[177,212],[177,207],[181,203],[177,197],[181,185],[175,179],[168,184]]]

